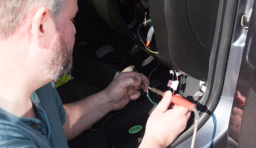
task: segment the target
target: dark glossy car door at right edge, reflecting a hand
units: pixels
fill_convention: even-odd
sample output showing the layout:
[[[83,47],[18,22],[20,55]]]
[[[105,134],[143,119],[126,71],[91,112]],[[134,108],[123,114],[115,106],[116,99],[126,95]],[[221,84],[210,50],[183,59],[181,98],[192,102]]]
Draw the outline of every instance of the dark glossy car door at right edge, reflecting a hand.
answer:
[[[229,147],[256,147],[256,3],[248,28],[236,93],[230,115]]]

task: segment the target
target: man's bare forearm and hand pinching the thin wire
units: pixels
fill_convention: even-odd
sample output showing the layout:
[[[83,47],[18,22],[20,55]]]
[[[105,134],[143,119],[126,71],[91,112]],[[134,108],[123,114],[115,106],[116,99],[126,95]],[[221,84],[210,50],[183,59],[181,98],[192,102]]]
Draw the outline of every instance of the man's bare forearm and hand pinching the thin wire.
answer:
[[[67,140],[81,134],[109,111],[118,110],[130,100],[140,97],[140,91],[137,90],[140,89],[139,85],[148,85],[148,78],[145,75],[135,72],[121,73],[105,90],[82,100],[64,104],[66,121],[63,129]]]

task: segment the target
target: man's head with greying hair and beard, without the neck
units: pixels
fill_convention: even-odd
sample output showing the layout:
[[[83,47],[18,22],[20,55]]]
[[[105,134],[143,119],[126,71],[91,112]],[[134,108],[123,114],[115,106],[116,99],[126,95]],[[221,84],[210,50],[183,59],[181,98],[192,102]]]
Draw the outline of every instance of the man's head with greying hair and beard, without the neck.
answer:
[[[76,33],[72,19],[77,11],[77,0],[1,0],[0,46],[1,41],[16,40],[25,47],[17,63],[55,81],[72,66]]]

